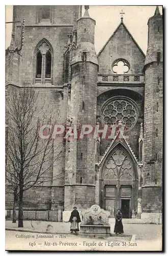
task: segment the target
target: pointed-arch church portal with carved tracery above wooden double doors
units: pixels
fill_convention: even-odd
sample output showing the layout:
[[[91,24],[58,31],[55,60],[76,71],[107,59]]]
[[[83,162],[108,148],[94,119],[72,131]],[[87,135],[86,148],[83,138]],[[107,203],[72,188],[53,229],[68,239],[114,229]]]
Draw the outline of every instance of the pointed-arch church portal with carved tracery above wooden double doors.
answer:
[[[123,218],[131,218],[137,208],[138,177],[136,164],[127,148],[119,142],[102,163],[100,206],[115,217],[121,208]]]

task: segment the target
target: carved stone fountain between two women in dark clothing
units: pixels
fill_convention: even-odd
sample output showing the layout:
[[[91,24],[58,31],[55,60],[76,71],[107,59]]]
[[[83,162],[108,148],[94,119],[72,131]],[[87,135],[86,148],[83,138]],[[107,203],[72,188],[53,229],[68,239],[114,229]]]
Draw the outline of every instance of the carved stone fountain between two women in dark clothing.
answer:
[[[82,211],[81,214],[80,233],[110,236],[109,211],[103,210],[99,205],[94,204],[90,209]]]

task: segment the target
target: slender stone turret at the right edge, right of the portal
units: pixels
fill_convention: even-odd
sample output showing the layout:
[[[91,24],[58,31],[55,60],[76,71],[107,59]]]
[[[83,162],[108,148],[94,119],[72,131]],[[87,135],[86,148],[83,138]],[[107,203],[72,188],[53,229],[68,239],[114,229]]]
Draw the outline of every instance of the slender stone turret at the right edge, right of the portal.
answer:
[[[145,60],[144,112],[144,212],[160,212],[162,180],[163,25],[156,7],[148,20],[148,50]],[[147,211],[146,211],[147,210]],[[149,211],[151,210],[151,211]]]

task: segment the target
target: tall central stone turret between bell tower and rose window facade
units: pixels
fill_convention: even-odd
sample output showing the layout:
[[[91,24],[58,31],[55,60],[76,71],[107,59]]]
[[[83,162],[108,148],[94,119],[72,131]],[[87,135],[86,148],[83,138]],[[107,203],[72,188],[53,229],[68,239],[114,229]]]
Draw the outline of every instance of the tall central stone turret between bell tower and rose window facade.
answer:
[[[77,127],[96,124],[98,61],[94,47],[95,20],[85,14],[76,22],[76,47],[72,50],[71,95],[68,117]],[[79,209],[95,203],[95,139],[84,136],[71,141],[66,152],[65,210]],[[72,164],[73,162],[73,164]],[[69,196],[71,195],[71,196]]]

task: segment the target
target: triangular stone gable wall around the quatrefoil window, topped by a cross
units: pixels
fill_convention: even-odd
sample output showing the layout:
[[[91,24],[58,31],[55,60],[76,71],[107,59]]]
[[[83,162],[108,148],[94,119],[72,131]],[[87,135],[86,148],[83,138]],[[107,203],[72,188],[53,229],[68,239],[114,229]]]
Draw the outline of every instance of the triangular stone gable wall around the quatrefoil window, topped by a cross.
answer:
[[[107,42],[103,51],[98,54],[99,74],[115,74],[112,65],[119,58],[124,58],[130,63],[128,74],[142,74],[145,56],[138,49],[123,24]]]

